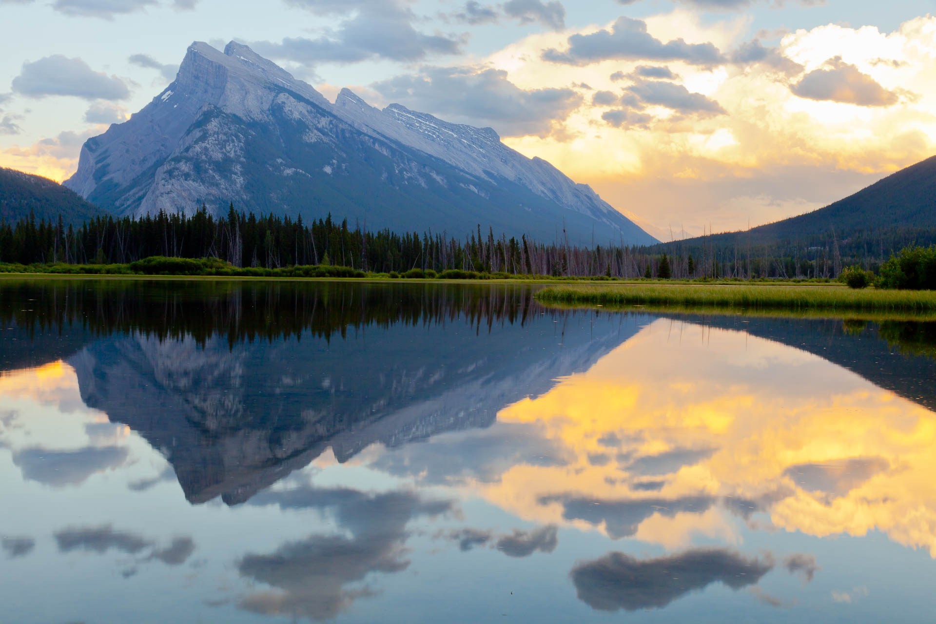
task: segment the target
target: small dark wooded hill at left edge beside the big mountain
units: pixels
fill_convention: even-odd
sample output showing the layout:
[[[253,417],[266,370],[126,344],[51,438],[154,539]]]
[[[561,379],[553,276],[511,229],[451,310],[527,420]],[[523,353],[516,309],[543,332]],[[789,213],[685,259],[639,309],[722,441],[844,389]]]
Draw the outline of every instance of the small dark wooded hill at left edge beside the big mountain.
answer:
[[[58,182],[0,167],[0,217],[8,224],[16,224],[28,218],[30,210],[36,214],[37,221],[56,222],[61,214],[65,223],[72,225],[105,214],[104,210]]]

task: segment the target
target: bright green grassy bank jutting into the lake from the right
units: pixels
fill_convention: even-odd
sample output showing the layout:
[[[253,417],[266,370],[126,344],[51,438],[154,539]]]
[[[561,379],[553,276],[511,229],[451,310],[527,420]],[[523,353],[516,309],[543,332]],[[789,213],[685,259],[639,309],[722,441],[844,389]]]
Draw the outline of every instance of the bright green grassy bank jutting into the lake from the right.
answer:
[[[551,286],[544,303],[648,306],[683,310],[794,312],[936,312],[936,291],[853,290],[815,286]]]

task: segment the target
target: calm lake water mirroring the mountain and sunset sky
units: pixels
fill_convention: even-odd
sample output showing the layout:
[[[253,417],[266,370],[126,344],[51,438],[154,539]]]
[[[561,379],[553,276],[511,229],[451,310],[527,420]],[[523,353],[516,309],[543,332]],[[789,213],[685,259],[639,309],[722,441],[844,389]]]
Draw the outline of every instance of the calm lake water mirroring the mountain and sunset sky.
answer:
[[[917,622],[936,329],[0,282],[8,622]]]

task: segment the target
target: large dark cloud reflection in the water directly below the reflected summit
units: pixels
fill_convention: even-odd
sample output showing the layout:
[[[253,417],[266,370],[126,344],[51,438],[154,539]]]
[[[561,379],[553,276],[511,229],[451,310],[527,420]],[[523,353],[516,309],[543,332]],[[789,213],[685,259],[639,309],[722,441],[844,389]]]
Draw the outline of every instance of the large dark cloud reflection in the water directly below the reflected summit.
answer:
[[[435,516],[451,507],[448,501],[423,501],[411,492],[366,494],[351,489],[301,487],[262,492],[249,504],[279,504],[286,509],[317,508],[331,511],[351,532],[314,535],[283,544],[270,555],[248,554],[239,564],[241,576],[265,583],[271,591],[245,596],[241,609],[299,619],[337,616],[370,588],[348,589],[373,572],[405,570],[405,526],[419,515]]]

